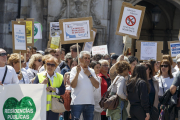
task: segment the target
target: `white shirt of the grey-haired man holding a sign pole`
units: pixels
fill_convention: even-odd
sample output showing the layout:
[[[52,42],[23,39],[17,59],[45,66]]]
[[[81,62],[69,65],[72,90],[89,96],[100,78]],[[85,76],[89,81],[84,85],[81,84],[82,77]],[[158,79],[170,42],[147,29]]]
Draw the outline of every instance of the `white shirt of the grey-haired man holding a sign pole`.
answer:
[[[97,80],[96,74],[93,69],[88,67],[88,70],[92,74],[92,76]],[[70,72],[70,82],[74,79],[77,73],[76,67],[73,67]],[[76,88],[72,88],[71,90],[71,105],[82,105],[82,104],[92,104],[95,105],[94,102],[94,86],[92,85],[88,76],[84,73],[83,68],[81,67],[81,71],[78,76],[78,82]]]

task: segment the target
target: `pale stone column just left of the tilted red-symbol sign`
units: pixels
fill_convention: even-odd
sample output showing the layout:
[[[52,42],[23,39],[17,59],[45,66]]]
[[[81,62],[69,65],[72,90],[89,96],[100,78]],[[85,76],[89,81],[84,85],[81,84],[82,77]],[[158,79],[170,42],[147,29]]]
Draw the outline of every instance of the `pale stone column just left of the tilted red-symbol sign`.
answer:
[[[115,35],[122,2],[122,0],[112,0],[110,19],[109,53],[116,53],[118,55],[122,54],[123,51],[123,36]]]

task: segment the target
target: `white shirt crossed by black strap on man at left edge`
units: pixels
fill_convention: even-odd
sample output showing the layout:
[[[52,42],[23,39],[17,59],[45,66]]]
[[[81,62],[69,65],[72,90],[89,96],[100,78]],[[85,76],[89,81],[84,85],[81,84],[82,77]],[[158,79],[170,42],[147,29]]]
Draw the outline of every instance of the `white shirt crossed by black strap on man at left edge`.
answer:
[[[6,68],[6,66],[0,67],[0,81],[1,82],[2,82],[2,79],[4,77],[5,68]],[[6,77],[4,79],[4,84],[18,84],[19,80],[18,80],[18,77],[16,75],[16,71],[14,70],[14,68],[7,65],[7,69],[8,70],[7,70]]]

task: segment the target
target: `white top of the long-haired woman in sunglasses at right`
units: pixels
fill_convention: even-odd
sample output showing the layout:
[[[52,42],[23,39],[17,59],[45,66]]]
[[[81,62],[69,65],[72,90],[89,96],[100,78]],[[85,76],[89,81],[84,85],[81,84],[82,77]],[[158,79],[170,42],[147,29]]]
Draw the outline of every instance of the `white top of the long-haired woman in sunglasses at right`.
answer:
[[[155,76],[155,78],[158,80],[159,82],[159,96],[163,96],[164,92],[166,92],[167,89],[169,89],[173,83],[174,78],[163,78],[162,76],[158,77],[158,75]],[[163,87],[164,87],[164,91],[163,91]]]

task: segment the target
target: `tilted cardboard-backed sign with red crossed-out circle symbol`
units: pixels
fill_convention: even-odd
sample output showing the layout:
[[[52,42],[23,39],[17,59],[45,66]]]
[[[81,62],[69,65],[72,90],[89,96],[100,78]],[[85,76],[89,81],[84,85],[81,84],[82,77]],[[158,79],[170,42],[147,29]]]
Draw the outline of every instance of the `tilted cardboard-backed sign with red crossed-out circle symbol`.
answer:
[[[116,35],[139,39],[146,7],[123,2]]]

